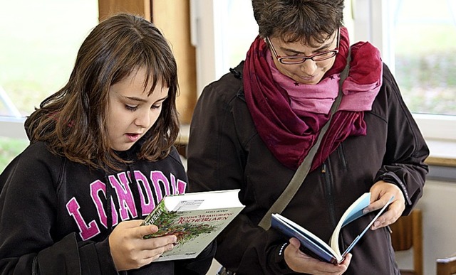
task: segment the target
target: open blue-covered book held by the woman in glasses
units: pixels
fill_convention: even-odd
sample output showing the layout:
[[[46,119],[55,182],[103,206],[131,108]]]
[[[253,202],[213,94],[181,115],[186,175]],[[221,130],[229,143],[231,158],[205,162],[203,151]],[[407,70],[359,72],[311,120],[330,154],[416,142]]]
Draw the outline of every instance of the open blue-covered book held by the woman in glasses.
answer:
[[[272,214],[271,227],[279,230],[279,232],[282,232],[287,237],[296,237],[299,239],[299,242],[301,242],[301,251],[309,256],[320,259],[321,261],[338,264],[345,259],[346,254],[348,254],[356,243],[358,243],[361,237],[366,234],[371,225],[373,225],[373,222],[375,222],[375,220],[377,220],[377,218],[385,211],[386,207],[393,202],[393,198],[390,198],[388,203],[378,210],[378,213],[375,217],[373,217],[373,220],[371,220],[371,222],[369,222],[364,230],[358,234],[353,242],[348,245],[344,252],[340,251],[338,242],[340,239],[341,229],[350,222],[353,222],[353,220],[365,215],[363,214],[363,209],[369,205],[371,201],[371,193],[364,193],[354,203],[352,203],[350,207],[347,208],[341,219],[338,221],[328,244],[323,242],[322,239],[318,238],[312,232],[309,232],[309,230],[306,230],[304,227],[296,224],[296,222],[293,222],[280,214]]]

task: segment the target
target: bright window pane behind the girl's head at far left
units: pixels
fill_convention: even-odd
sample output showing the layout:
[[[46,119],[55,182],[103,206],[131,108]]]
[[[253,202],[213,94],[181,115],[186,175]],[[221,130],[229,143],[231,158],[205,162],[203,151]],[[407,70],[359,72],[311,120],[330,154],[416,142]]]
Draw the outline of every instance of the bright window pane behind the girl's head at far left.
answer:
[[[98,1],[0,6],[0,115],[25,116],[68,80],[79,46],[98,23]]]

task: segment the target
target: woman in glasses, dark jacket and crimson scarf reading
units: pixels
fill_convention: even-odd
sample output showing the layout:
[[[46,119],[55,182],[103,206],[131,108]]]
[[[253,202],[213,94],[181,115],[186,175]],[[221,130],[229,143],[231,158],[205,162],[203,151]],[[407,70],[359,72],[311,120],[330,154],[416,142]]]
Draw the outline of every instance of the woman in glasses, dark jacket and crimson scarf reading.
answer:
[[[240,188],[246,205],[217,238],[216,259],[237,274],[399,274],[388,225],[423,195],[428,149],[393,75],[370,43],[349,47],[343,0],[252,6],[259,36],[245,62],[204,88],[190,127],[191,190]],[[328,241],[346,208],[371,192],[369,213],[341,231],[344,250],[394,197],[352,255],[334,265],[258,223],[328,122],[348,56],[341,104],[281,213]]]

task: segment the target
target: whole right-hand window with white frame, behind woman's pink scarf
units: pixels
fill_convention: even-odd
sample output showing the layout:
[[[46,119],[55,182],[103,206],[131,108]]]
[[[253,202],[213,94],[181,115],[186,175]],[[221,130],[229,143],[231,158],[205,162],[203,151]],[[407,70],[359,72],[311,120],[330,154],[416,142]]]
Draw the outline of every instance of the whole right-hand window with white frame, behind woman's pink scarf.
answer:
[[[356,40],[380,48],[426,139],[456,141],[456,1],[354,0]]]

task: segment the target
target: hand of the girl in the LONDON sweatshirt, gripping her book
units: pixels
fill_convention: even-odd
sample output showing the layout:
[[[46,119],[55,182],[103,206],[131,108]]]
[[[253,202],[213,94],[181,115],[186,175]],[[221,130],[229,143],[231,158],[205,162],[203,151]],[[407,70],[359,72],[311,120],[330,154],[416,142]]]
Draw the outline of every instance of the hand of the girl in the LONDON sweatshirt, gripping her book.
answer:
[[[138,269],[150,264],[163,252],[171,250],[177,242],[176,236],[142,239],[157,232],[155,225],[141,226],[142,220],[120,222],[109,236],[111,256],[118,271]]]

